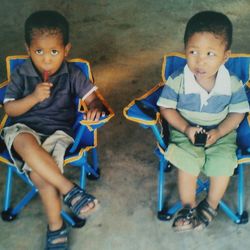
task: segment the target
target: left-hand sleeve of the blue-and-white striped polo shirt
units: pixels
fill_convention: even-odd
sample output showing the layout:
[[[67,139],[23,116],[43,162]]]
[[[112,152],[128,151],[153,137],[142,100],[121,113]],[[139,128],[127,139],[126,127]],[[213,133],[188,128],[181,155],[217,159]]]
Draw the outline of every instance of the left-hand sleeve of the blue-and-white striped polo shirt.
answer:
[[[178,96],[180,89],[180,81],[179,84],[176,79],[168,78],[165,86],[161,92],[161,95],[157,101],[157,105],[164,108],[173,108],[176,109]]]

